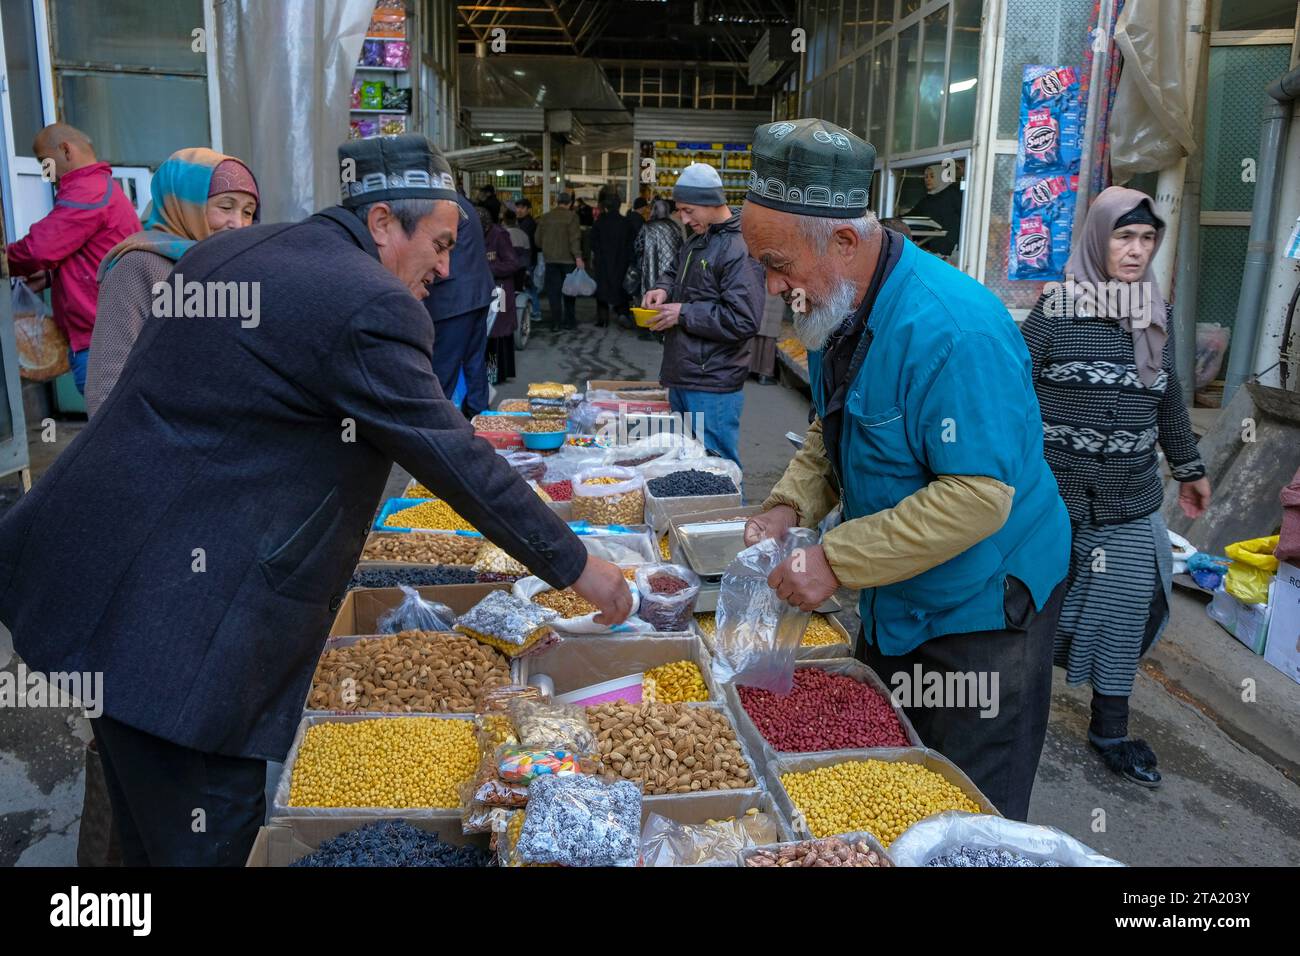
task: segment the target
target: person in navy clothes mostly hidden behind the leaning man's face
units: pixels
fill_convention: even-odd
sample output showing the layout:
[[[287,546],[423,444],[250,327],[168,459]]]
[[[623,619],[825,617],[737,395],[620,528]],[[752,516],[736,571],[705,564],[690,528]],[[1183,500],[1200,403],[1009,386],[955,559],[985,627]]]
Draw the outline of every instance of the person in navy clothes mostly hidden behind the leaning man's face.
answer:
[[[451,274],[429,286],[424,307],[434,323],[433,373],[442,394],[451,395],[463,369],[465,399],[460,407],[473,418],[488,407],[488,307],[495,282],[488,268],[478,212],[464,196],[456,196],[456,202],[464,215],[451,248]]]

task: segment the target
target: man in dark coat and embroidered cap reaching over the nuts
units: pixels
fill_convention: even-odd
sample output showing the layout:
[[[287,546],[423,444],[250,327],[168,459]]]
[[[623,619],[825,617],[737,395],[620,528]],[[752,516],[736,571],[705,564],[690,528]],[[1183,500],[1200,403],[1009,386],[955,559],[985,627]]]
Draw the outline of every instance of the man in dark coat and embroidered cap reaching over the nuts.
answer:
[[[35,671],[103,675],[94,731],[129,865],[243,864],[394,460],[550,584],[611,622],[630,610],[621,572],[438,388],[417,299],[455,243],[446,160],[419,135],[339,153],[342,207],[177,263],[177,281],[252,307],[147,324],[0,520],[16,649]]]

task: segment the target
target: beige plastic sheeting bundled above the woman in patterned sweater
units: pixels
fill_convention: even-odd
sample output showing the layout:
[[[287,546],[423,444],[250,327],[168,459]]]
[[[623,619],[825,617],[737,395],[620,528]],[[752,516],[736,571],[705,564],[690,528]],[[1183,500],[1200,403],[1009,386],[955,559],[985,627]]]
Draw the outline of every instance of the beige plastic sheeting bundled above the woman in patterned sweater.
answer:
[[[1173,165],[1196,148],[1184,81],[1187,5],[1128,0],[1115,25],[1123,72],[1110,114],[1114,182]]]

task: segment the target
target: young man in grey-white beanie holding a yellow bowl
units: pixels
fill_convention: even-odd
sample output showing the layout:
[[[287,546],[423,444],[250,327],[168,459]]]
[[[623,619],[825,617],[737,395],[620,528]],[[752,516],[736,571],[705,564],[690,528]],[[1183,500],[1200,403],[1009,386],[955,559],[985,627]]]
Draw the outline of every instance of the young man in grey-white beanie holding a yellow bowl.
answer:
[[[693,163],[672,198],[694,235],[645,295],[645,307],[659,310],[651,328],[667,333],[659,381],[668,386],[672,410],[703,427],[705,447],[740,464],[742,389],[763,317],[763,267],[745,248],[740,215],[727,206],[718,170]]]

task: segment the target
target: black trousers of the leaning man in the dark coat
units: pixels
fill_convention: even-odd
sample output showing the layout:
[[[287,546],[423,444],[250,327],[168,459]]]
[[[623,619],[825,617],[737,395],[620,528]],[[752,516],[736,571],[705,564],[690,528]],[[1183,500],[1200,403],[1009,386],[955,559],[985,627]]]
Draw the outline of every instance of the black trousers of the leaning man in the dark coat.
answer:
[[[126,866],[243,866],[266,816],[266,761],[91,721]]]

